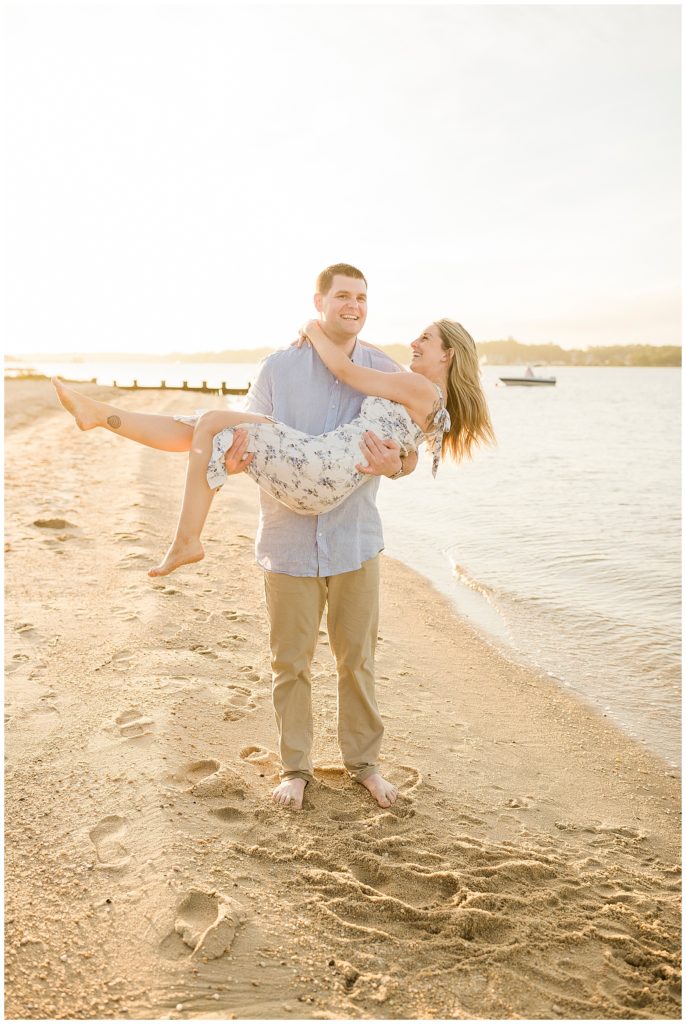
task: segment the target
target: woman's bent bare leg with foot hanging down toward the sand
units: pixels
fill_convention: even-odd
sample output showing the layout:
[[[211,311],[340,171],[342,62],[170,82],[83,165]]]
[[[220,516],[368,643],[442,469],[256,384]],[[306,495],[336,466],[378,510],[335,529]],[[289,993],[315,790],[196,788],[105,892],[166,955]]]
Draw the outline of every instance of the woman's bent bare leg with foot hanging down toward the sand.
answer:
[[[199,562],[205,557],[200,536],[215,494],[207,482],[207,467],[212,455],[214,435],[226,427],[237,427],[239,424],[269,422],[271,421],[267,417],[257,416],[254,413],[216,412],[205,413],[201,416],[192,432],[183,505],[174,540],[164,560],[159,565],[155,565],[148,571],[148,575],[168,575],[179,566]]]

